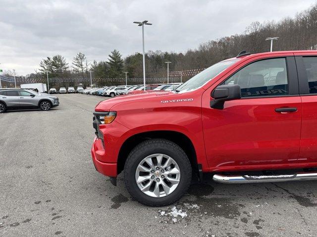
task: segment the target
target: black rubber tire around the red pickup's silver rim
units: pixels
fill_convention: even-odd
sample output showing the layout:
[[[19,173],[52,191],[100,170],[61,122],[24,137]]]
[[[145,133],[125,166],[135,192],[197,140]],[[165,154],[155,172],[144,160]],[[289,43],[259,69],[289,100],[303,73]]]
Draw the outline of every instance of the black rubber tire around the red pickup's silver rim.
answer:
[[[181,178],[176,189],[165,197],[150,197],[143,193],[135,180],[136,169],[142,159],[164,154],[173,158],[179,166]],[[148,206],[166,206],[186,194],[192,180],[192,167],[185,152],[175,143],[166,139],[150,139],[137,145],[129,154],[124,165],[124,182],[130,195]]]

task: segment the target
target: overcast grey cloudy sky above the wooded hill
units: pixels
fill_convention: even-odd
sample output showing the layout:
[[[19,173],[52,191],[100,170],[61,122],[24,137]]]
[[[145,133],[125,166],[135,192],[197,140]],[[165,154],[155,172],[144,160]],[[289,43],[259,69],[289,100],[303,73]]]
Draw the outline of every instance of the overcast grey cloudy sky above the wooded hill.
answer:
[[[184,52],[242,33],[253,21],[295,16],[316,0],[0,0],[0,69],[34,73],[40,61],[77,52],[89,61],[147,50]],[[270,36],[267,36],[270,37]],[[274,37],[274,36],[272,36]],[[265,42],[264,42],[265,43]]]

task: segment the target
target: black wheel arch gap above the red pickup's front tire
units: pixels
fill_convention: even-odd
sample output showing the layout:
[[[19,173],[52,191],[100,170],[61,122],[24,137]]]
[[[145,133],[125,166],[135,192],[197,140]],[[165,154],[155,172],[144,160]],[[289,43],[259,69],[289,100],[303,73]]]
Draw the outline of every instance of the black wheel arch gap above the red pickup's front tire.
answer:
[[[180,146],[189,158],[193,170],[198,172],[197,154],[190,138],[178,131],[156,130],[134,134],[124,141],[118,153],[117,173],[119,174],[124,169],[125,161],[134,147],[145,140],[154,138],[163,138]]]

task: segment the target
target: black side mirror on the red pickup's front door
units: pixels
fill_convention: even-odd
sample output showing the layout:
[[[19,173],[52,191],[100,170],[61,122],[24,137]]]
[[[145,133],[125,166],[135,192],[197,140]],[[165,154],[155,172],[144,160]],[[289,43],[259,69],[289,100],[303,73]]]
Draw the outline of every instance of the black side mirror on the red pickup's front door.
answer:
[[[225,101],[241,98],[240,85],[219,85],[211,93],[210,107],[222,110]]]

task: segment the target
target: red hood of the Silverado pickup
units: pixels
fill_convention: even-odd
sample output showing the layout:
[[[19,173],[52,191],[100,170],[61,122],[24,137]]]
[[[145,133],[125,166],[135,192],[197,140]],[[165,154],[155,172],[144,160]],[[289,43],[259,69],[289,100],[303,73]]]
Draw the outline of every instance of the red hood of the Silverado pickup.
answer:
[[[95,111],[96,112],[103,112],[103,111],[110,111],[110,109],[119,103],[122,102],[130,102],[130,101],[140,101],[140,100],[148,100],[151,98],[164,98],[165,96],[172,96],[175,94],[174,92],[171,91],[164,91],[164,92],[157,92],[157,93],[148,93],[148,92],[142,92],[138,94],[132,94],[132,95],[120,95],[117,97],[113,97],[111,99],[103,100],[97,104]]]

